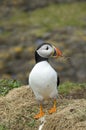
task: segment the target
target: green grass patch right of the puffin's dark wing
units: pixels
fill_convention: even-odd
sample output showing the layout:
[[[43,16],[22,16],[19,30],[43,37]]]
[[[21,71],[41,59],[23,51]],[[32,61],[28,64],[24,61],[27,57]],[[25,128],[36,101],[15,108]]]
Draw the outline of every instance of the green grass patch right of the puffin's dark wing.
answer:
[[[65,82],[59,86],[59,93],[68,95],[70,92],[86,89],[86,83],[71,83]]]

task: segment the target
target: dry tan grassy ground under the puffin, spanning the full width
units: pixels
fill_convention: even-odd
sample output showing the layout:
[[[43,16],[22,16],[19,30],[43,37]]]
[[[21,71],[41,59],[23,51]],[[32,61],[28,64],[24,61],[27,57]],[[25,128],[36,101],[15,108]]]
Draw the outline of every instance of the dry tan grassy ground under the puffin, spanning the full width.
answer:
[[[86,100],[57,100],[57,112],[49,115],[51,103],[44,104],[45,123],[41,130],[85,130]],[[32,90],[23,86],[11,90],[0,97],[0,126],[4,130],[38,130],[41,122],[33,117],[38,112],[38,104]]]

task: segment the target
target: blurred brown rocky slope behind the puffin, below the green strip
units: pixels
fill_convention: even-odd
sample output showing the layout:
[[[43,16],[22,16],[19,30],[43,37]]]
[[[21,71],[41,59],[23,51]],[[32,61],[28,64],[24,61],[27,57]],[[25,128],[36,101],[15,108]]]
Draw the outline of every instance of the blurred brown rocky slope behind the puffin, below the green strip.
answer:
[[[23,34],[20,34],[22,38]],[[4,40],[4,39],[3,39]],[[14,36],[0,43],[0,77],[9,77],[26,82],[35,64],[34,49],[41,40],[49,41],[60,48],[68,59],[51,59],[62,81],[86,81],[86,30],[66,27],[45,34],[41,39],[32,38],[22,42]],[[11,42],[11,41],[12,42]],[[19,41],[19,44],[18,44]],[[53,63],[52,63],[53,62]]]

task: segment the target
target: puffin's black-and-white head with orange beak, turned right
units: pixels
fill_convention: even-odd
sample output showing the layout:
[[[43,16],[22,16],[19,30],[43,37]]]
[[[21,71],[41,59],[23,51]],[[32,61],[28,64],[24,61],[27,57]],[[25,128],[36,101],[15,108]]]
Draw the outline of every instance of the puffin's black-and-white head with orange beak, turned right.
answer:
[[[41,44],[35,51],[36,62],[48,60],[49,57],[62,57],[62,52],[49,43]]]

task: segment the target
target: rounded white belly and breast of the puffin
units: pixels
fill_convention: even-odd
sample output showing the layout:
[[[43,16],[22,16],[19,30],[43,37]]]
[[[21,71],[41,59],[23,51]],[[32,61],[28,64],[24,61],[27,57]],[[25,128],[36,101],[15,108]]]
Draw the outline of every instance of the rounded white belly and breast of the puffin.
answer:
[[[30,73],[29,85],[37,100],[54,98],[57,95],[57,73],[48,62],[40,62]]]

